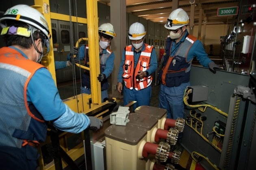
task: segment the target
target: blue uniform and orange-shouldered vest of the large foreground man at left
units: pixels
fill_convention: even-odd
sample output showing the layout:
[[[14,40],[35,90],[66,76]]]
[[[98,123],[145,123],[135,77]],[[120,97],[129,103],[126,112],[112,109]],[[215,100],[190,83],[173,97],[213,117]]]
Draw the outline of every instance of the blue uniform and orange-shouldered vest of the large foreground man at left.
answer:
[[[0,49],[0,86],[3,169],[36,169],[36,146],[46,137],[44,121],[71,133],[90,125],[88,116],[73,112],[62,102],[50,72],[13,46]]]

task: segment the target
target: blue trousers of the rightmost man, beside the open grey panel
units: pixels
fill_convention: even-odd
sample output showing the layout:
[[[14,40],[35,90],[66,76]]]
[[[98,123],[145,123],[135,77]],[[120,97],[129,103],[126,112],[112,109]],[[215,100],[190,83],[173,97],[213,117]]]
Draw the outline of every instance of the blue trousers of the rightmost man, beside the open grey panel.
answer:
[[[159,92],[159,108],[167,110],[166,118],[177,119],[184,117],[183,95],[185,88],[189,85],[189,82],[182,83],[178,87],[167,87],[161,84]]]

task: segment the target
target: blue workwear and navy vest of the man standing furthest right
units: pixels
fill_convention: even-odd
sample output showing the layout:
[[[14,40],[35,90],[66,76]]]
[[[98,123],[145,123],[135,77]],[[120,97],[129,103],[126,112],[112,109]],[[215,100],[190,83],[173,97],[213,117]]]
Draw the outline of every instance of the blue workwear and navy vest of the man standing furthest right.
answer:
[[[159,72],[159,108],[167,110],[167,118],[184,117],[183,95],[185,88],[190,85],[190,68],[194,57],[204,67],[213,62],[208,58],[201,41],[189,35],[187,30],[178,43],[168,36],[163,68]]]

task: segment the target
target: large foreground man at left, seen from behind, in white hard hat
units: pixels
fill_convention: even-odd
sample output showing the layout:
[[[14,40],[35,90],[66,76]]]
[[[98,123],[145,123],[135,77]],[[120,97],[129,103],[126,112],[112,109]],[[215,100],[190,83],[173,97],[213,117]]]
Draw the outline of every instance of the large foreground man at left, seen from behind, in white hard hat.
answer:
[[[47,68],[39,64],[50,50],[48,24],[27,5],[0,18],[6,47],[0,48],[0,169],[35,170],[37,146],[46,139],[46,122],[67,132],[99,129],[102,120],[73,112],[59,96]]]

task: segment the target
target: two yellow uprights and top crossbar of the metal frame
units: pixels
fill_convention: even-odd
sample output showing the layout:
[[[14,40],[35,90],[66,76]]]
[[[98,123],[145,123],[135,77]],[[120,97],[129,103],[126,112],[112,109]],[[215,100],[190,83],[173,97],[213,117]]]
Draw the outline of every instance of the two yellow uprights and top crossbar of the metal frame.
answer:
[[[79,22],[87,24],[88,30],[88,42],[90,46],[89,60],[90,60],[90,78],[91,78],[91,95],[92,103],[101,103],[101,88],[100,82],[97,80],[98,74],[100,74],[100,56],[99,56],[99,43],[98,43],[98,7],[97,0],[87,0],[87,18],[71,16],[72,22]],[[58,19],[62,21],[70,21],[69,15],[63,15],[58,13],[50,12],[49,0],[35,0],[33,6],[40,11],[46,21],[48,22],[50,34],[52,34],[51,19]],[[96,11],[96,12],[95,12]],[[78,47],[78,45],[77,45]],[[56,72],[54,66],[54,54],[53,54],[53,43],[50,39],[50,52],[48,56],[42,58],[42,65],[48,68],[56,84]],[[84,68],[85,69],[85,68]],[[88,69],[87,69],[88,70]]]

